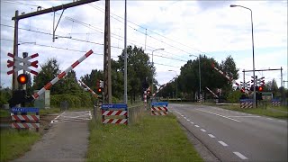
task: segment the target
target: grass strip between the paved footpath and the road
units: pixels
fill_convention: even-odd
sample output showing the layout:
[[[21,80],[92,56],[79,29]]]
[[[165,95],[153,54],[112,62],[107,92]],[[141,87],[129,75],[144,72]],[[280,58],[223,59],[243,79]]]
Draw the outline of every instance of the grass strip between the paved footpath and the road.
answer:
[[[128,126],[93,120],[89,128],[86,161],[202,161],[172,114],[143,112]]]

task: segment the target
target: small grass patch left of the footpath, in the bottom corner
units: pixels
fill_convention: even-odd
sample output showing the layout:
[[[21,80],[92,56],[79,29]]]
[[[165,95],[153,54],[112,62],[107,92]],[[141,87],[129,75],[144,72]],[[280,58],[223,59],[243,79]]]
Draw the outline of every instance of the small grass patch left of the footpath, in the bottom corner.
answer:
[[[22,156],[40,139],[40,133],[29,130],[0,130],[0,161]]]

